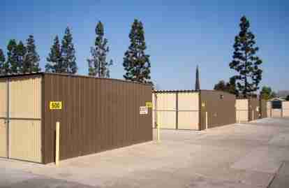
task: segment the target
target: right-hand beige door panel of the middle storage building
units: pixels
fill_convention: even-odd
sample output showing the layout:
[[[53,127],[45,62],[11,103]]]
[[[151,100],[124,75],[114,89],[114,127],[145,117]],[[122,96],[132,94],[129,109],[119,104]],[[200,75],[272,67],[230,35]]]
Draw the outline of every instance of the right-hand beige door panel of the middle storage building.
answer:
[[[178,129],[199,130],[199,92],[178,94]]]

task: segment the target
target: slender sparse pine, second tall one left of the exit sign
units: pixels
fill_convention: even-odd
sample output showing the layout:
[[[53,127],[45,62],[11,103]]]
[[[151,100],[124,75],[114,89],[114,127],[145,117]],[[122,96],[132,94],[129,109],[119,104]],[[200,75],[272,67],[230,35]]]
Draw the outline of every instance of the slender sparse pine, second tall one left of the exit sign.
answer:
[[[104,38],[103,23],[98,22],[96,25],[96,41],[94,47],[91,47],[91,59],[87,59],[89,64],[89,75],[100,78],[110,78],[109,66],[112,66],[112,60],[107,62],[106,57],[108,52],[108,39]]]

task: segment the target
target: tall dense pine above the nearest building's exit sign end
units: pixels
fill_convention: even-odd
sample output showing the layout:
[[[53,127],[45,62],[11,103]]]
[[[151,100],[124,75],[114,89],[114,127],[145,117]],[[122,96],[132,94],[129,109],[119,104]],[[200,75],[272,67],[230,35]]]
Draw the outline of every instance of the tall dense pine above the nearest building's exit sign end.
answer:
[[[150,82],[149,55],[144,53],[147,46],[144,42],[144,28],[142,22],[134,20],[129,34],[131,45],[124,54],[124,78],[133,82]]]

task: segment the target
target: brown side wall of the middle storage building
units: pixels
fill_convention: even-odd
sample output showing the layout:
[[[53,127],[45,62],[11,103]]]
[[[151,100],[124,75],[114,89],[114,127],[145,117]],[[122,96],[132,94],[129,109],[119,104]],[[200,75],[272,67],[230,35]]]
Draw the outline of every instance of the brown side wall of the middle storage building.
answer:
[[[223,99],[221,99],[223,95]],[[219,91],[200,91],[200,130],[206,129],[206,112],[208,113],[208,128],[235,124],[236,97],[233,94]]]

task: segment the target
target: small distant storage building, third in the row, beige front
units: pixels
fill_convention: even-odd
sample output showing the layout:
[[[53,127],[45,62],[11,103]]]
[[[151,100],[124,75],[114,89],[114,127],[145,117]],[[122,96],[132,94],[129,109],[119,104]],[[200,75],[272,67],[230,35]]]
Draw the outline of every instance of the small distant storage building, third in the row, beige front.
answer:
[[[258,99],[236,99],[236,121],[250,122],[261,117]]]

